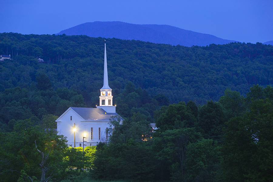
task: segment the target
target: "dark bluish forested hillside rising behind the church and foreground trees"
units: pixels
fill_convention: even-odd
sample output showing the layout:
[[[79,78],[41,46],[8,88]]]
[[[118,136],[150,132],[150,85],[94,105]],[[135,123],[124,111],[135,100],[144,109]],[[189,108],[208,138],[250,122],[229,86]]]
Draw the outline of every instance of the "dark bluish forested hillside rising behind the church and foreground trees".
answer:
[[[0,34],[0,90],[37,83],[46,74],[54,88],[72,88],[87,106],[97,104],[103,80],[102,38],[66,35]],[[150,95],[164,94],[171,103],[218,100],[226,88],[243,95],[254,84],[273,83],[273,46],[244,43],[184,47],[107,39],[110,86],[118,95],[131,81]],[[17,56],[18,55],[18,56]],[[49,64],[37,62],[43,58]],[[117,99],[117,98],[116,98]],[[116,100],[118,103],[118,100]]]

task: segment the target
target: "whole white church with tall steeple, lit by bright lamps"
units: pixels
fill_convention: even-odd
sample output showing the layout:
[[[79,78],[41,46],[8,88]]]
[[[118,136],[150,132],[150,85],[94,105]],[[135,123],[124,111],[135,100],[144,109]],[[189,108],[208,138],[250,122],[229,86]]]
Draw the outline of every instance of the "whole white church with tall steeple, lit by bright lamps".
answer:
[[[71,147],[96,146],[108,140],[109,120],[116,113],[112,89],[108,85],[106,44],[104,44],[103,87],[100,89],[99,106],[96,108],[69,107],[57,120],[57,132],[67,137]],[[83,138],[85,137],[85,138]]]

